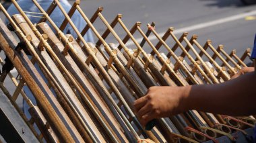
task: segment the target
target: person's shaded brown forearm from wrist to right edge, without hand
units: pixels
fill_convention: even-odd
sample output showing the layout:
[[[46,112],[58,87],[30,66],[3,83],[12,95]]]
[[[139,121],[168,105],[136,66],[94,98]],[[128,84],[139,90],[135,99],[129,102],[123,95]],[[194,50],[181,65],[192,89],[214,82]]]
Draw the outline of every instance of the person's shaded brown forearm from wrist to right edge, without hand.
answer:
[[[225,115],[256,113],[256,75],[253,72],[218,85],[195,85],[186,90],[185,109]]]

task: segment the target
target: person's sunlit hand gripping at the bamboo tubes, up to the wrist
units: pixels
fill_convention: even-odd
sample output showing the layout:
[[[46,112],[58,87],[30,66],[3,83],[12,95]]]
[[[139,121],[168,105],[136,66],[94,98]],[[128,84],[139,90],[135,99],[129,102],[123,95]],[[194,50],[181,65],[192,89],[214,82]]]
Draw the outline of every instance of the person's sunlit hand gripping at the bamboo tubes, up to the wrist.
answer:
[[[135,113],[142,126],[159,117],[185,111],[186,87],[150,87],[144,97],[134,102]]]

